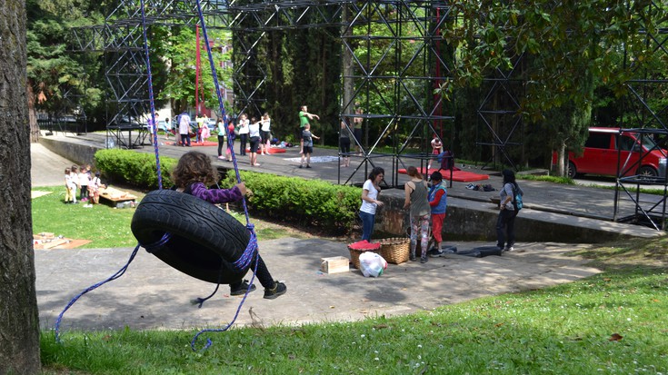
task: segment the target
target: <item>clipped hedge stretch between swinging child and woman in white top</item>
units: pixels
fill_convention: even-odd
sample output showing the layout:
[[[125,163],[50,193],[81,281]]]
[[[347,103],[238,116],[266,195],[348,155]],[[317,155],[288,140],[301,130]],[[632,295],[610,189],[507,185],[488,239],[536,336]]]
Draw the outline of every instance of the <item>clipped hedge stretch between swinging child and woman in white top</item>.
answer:
[[[362,193],[352,186],[264,173],[242,172],[241,179],[254,193],[247,201],[253,212],[280,221],[308,222],[327,232],[352,229]],[[234,183],[230,173],[225,185]]]

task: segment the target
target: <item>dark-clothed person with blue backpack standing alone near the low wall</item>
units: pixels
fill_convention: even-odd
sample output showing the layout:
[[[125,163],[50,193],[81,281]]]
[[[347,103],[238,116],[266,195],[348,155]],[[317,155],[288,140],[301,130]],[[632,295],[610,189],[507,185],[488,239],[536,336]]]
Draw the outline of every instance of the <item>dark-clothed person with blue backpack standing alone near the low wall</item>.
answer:
[[[515,217],[517,217],[513,199],[515,194],[524,195],[524,192],[515,181],[513,171],[503,170],[502,175],[503,188],[499,192],[499,208],[501,211],[499,211],[499,216],[496,219],[496,246],[503,252],[513,252],[515,250]]]

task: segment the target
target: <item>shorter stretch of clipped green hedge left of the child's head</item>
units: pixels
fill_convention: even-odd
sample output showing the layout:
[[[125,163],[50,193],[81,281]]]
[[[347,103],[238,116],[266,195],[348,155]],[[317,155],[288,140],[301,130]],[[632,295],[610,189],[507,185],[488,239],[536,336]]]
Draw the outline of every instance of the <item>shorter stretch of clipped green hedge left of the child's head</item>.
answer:
[[[174,158],[160,157],[164,187],[173,184],[169,173],[176,163]],[[125,182],[148,189],[158,188],[157,167],[152,153],[135,153],[119,149],[100,150],[95,153],[95,167],[111,181]]]

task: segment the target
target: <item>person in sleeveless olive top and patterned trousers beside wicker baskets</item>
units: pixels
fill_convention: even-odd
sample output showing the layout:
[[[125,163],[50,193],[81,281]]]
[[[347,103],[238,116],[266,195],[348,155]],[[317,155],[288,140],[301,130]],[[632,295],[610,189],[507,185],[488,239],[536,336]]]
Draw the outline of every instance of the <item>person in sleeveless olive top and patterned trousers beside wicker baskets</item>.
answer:
[[[404,210],[410,208],[411,213],[411,261],[415,261],[415,248],[417,247],[417,234],[420,233],[420,262],[426,263],[427,247],[429,246],[429,220],[431,208],[427,200],[429,192],[427,182],[422,174],[417,172],[413,165],[408,167],[408,176],[411,180],[404,184]]]

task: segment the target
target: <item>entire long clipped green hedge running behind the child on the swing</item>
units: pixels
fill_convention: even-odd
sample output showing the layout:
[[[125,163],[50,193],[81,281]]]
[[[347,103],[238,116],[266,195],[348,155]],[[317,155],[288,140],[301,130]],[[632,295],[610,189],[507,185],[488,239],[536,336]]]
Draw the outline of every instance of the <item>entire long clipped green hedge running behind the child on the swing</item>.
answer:
[[[173,185],[169,173],[178,161],[160,157],[163,187]],[[155,156],[130,150],[100,150],[95,166],[112,182],[125,182],[143,189],[157,189]],[[350,232],[360,205],[362,190],[319,180],[241,172],[241,179],[254,192],[248,209],[265,218],[308,224],[326,232]],[[227,173],[222,187],[236,183],[234,171]]]

